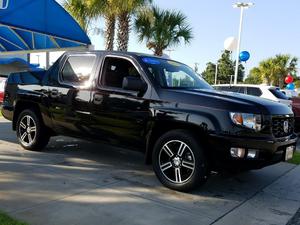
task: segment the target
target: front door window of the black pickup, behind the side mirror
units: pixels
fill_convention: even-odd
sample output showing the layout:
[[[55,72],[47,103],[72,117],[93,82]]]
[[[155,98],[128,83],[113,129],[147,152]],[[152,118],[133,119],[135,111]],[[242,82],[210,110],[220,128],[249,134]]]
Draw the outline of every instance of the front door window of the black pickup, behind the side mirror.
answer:
[[[101,82],[106,87],[122,88],[125,77],[138,77],[135,66],[126,59],[107,57],[102,71]]]

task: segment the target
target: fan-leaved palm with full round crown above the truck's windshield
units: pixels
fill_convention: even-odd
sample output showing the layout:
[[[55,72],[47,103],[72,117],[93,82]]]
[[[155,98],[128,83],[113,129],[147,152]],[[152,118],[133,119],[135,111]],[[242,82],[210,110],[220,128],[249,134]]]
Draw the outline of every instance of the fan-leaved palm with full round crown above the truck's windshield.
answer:
[[[187,18],[181,12],[161,10],[155,6],[149,13],[141,12],[135,29],[140,42],[144,40],[155,55],[162,56],[170,46],[177,46],[183,40],[186,44],[193,38]]]

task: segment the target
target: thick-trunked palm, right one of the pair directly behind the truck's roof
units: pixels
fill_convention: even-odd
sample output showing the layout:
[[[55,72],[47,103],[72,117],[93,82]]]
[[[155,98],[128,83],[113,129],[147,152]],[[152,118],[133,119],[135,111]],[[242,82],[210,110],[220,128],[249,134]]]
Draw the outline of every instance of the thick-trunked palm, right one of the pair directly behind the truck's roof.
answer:
[[[147,7],[152,0],[114,0],[117,5],[117,48],[119,51],[128,50],[131,18],[143,7]]]

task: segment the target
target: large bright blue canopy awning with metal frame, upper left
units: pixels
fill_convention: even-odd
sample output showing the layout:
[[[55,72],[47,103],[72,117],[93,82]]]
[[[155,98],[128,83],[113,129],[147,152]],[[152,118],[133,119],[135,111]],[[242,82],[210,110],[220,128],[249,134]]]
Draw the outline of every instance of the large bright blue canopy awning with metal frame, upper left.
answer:
[[[54,0],[0,0],[0,55],[90,44],[78,23]]]

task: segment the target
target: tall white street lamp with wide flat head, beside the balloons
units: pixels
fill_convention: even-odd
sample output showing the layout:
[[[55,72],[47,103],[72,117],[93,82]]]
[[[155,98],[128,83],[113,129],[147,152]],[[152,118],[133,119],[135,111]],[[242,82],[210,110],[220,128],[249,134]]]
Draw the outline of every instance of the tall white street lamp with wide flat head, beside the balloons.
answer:
[[[251,6],[254,6],[254,3],[252,3],[252,2],[249,2],[249,3],[238,2],[238,3],[233,5],[233,8],[240,8],[241,9],[239,37],[238,37],[238,44],[237,44],[237,51],[236,51],[236,65],[235,65],[235,73],[234,73],[234,84],[237,84],[237,78],[238,78],[238,72],[239,72],[241,35],[242,35],[242,28],[243,28],[244,9],[249,9]]]

